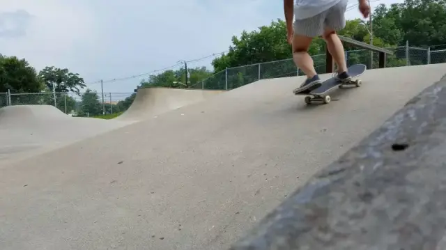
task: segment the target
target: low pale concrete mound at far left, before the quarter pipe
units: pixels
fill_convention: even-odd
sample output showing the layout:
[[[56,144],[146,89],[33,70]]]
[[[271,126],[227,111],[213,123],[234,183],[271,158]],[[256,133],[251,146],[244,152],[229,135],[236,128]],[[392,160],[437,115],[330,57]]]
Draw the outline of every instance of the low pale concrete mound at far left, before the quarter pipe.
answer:
[[[71,117],[51,105],[3,107],[0,109],[0,169],[7,162],[128,124],[130,122]]]

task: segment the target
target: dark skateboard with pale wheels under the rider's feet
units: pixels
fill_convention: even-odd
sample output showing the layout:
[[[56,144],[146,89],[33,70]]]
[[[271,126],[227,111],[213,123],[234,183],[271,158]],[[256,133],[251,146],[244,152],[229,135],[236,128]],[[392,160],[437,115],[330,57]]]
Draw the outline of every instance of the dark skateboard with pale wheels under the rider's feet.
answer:
[[[311,91],[305,90],[302,92],[295,93],[295,95],[307,95],[305,97],[305,103],[311,104],[313,101],[322,101],[325,104],[328,104],[331,101],[330,95],[326,95],[328,92],[330,92],[334,88],[343,88],[344,85],[354,85],[356,87],[361,86],[361,80],[356,79],[353,81],[353,78],[359,77],[360,75],[364,74],[365,70],[367,69],[367,66],[364,64],[355,64],[351,65],[347,68],[348,75],[351,76],[351,80],[347,82],[337,81],[334,79],[334,77],[327,79],[322,82],[322,85],[319,86],[316,89],[313,89]],[[313,96],[313,97],[312,97]]]

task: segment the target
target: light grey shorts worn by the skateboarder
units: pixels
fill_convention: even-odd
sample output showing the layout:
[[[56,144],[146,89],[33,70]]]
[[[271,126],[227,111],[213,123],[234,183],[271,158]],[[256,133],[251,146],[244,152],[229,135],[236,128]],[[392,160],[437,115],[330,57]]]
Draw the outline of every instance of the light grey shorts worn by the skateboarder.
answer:
[[[347,1],[341,0],[323,13],[307,19],[298,19],[294,21],[294,33],[302,36],[314,38],[322,36],[325,29],[339,31],[346,26]]]

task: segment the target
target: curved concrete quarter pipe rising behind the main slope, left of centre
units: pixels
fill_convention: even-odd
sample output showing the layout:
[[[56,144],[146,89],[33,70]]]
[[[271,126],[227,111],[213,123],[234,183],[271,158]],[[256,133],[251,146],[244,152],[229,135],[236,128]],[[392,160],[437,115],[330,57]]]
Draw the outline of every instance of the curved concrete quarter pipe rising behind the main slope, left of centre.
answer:
[[[166,111],[178,109],[225,91],[182,88],[139,88],[132,106],[116,120],[143,120]]]

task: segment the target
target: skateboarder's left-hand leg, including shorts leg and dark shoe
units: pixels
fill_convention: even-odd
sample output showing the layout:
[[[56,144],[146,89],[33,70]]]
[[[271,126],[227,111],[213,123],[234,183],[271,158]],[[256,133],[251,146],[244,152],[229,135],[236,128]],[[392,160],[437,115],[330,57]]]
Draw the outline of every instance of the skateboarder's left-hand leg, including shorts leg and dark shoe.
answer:
[[[295,65],[307,75],[307,79],[295,91],[321,86],[322,81],[314,69],[314,61],[308,54],[308,49],[313,38],[323,33],[324,19],[324,15],[316,15],[307,19],[296,19],[294,22],[293,60]]]

